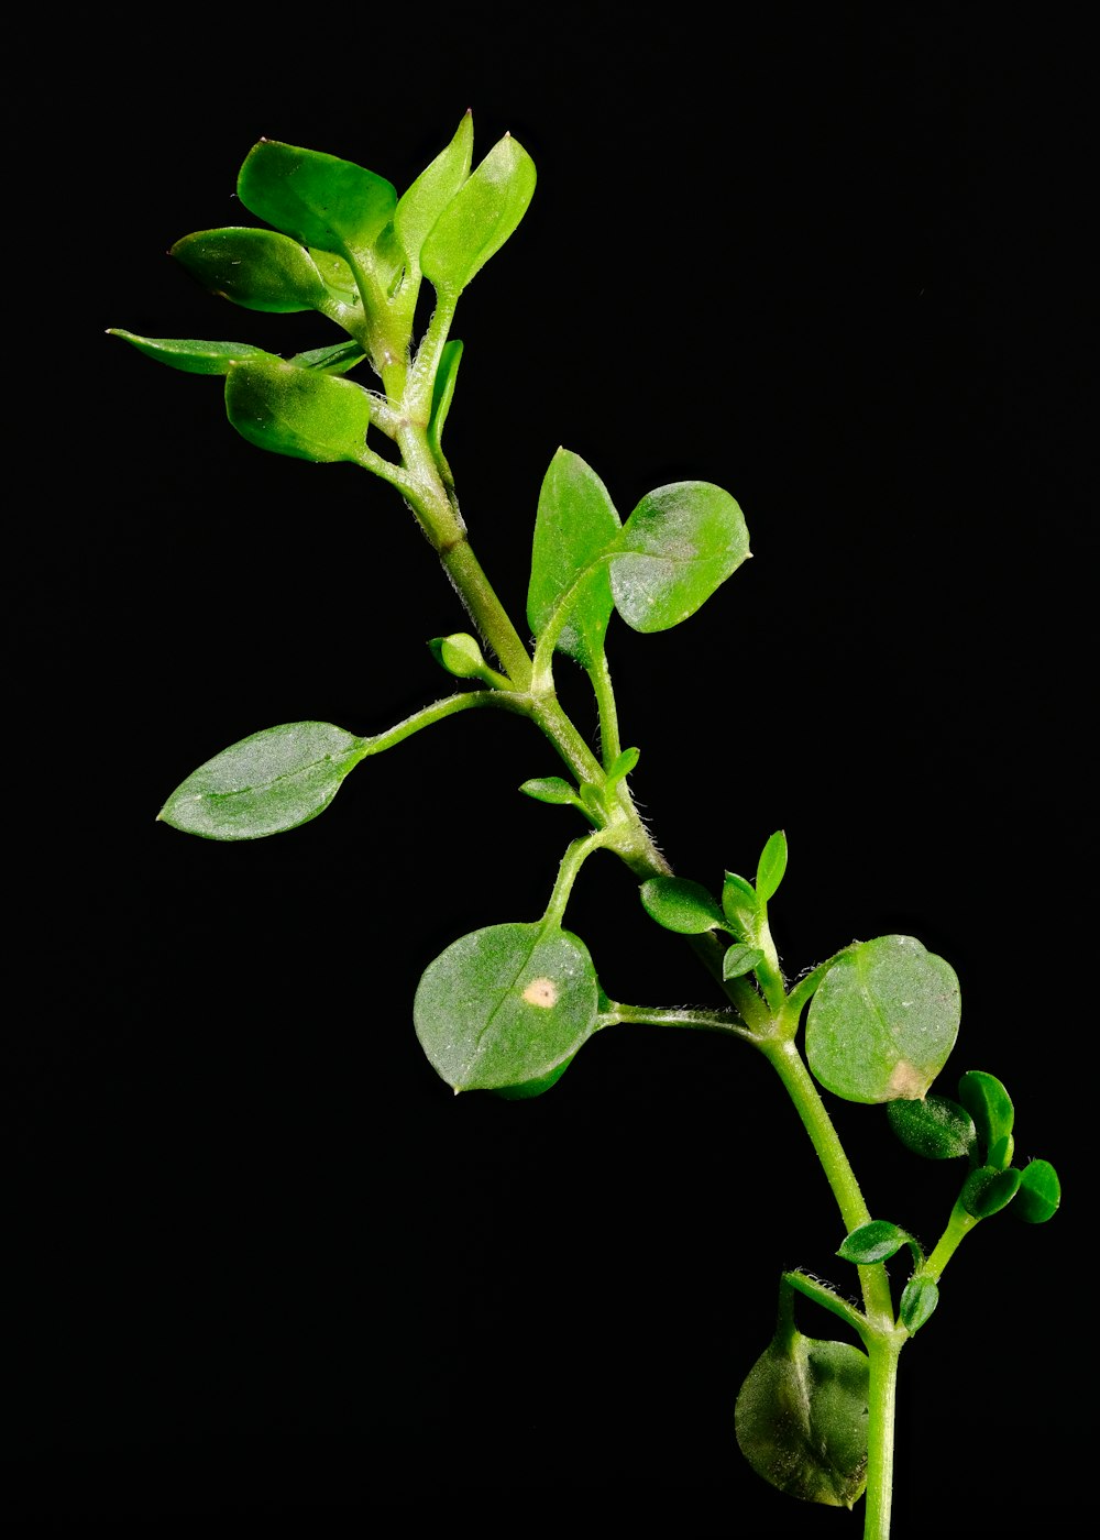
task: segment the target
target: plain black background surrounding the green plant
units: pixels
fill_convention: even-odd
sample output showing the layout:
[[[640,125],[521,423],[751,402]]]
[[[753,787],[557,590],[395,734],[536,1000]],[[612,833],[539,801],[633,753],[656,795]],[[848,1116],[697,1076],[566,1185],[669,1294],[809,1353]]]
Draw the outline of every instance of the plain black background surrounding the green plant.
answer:
[[[394,493],[260,454],[217,380],[103,330],[336,340],[162,253],[251,222],[234,180],[260,136],[404,189],[470,106],[478,159],[511,131],[539,169],[454,328],[475,548],[522,616],[559,444],[622,516],[684,477],[739,499],[755,559],[681,630],[613,631],[636,796],[712,886],[787,830],[792,972],[886,932],[955,966],[941,1089],[998,1073],[1020,1155],[1068,1192],[1051,1226],[981,1226],[906,1352],[895,1535],[1077,1532],[1091,86],[1060,14],[350,11],[273,18],[274,42],[177,17],[69,38],[63,99],[28,34],[6,1269],[26,1520],[414,1526],[445,1503],[513,1528],[667,1498],[686,1534],[861,1532],[733,1441],[780,1269],[854,1286],[763,1061],[618,1029],[515,1104],[454,1100],[414,1040],[427,962],[545,902],[576,821],[515,788],[555,772],[548,747],[471,713],[279,839],[154,822],[260,727],[377,732],[445,693],[424,644],[464,616]],[[712,999],[632,887],[598,858],[570,904],[609,993]],[[955,1167],[901,1152],[881,1109],[837,1121],[872,1212],[932,1244]]]

